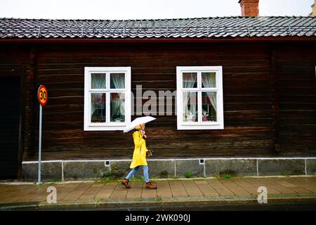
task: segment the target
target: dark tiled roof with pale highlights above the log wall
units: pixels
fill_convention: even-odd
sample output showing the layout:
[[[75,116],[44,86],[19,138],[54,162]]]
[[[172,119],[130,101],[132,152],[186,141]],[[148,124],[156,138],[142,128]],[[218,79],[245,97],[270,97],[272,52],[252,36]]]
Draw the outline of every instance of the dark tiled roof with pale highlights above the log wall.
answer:
[[[0,18],[0,39],[315,37],[315,17],[214,17],[164,20]]]

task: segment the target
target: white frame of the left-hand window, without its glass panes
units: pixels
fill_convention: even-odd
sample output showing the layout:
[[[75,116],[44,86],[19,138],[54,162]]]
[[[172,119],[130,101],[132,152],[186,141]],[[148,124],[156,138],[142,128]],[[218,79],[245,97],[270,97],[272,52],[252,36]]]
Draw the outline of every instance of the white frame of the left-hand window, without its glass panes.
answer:
[[[105,89],[91,89],[91,74],[105,73]],[[111,89],[110,74],[124,73],[125,88]],[[105,93],[105,123],[91,122],[91,93]],[[125,122],[110,122],[110,96],[125,94]],[[131,67],[85,67],[84,68],[84,131],[122,131],[131,122]]]

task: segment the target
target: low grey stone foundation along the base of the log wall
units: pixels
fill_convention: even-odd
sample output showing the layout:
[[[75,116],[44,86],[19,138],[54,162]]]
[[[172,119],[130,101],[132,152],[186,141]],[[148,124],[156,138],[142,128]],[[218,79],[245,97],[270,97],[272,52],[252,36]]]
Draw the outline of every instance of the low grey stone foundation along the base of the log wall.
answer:
[[[316,158],[201,158],[147,160],[151,179],[202,178],[209,176],[316,175]],[[131,160],[43,161],[41,180],[121,179]],[[25,181],[36,181],[37,162],[23,162]],[[143,177],[140,170],[134,178]]]

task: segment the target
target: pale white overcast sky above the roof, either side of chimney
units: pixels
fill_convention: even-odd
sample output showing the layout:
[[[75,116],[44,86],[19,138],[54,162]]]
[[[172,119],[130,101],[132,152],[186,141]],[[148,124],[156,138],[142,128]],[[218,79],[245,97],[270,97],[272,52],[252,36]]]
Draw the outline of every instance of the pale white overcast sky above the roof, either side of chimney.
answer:
[[[308,15],[314,0],[260,0],[259,15]],[[164,19],[241,15],[238,0],[0,0],[0,17]]]

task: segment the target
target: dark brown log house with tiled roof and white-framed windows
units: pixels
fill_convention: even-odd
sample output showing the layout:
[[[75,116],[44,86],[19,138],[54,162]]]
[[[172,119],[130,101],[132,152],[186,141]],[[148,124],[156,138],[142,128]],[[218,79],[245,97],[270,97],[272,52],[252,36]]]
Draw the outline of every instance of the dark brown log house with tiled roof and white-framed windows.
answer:
[[[91,107],[97,107],[91,106],[91,99],[98,96],[95,101],[106,104],[115,98],[115,94],[107,95],[106,91],[105,95],[97,91],[96,98],[93,94],[91,98],[87,96],[93,85],[103,89],[115,82],[110,77],[114,77],[112,70],[119,71],[115,76],[125,75],[127,89],[122,104],[126,122],[140,116],[128,113],[129,108],[136,111],[139,103],[148,101],[129,95],[130,89],[136,96],[137,85],[142,85],[142,94],[153,91],[158,96],[159,91],[178,91],[180,101],[184,98],[180,89],[185,81],[178,79],[184,79],[186,70],[194,77],[195,84],[190,88],[202,85],[203,89],[203,85],[211,84],[201,82],[203,76],[209,75],[206,70],[216,77],[214,85],[221,85],[216,86],[216,106],[207,98],[207,91],[200,91],[205,101],[197,94],[202,105],[197,103],[195,110],[201,115],[191,121],[192,129],[183,125],[187,115],[182,112],[183,103],[176,106],[178,95],[172,98],[172,115],[154,115],[157,120],[146,127],[147,145],[154,149],[154,158],[315,157],[315,66],[313,17],[1,18],[1,178],[21,177],[22,162],[38,159],[40,84],[48,88],[48,103],[43,108],[43,160],[131,158],[131,134],[123,134],[122,126],[102,127],[110,120],[121,122],[114,117],[112,120],[106,109],[96,115],[107,115],[96,119],[100,127],[85,129],[93,124]],[[93,83],[93,78],[86,77],[90,75],[112,83],[89,87],[86,82]],[[113,85],[113,89],[124,88]],[[152,101],[158,110],[159,98]],[[217,127],[212,127],[211,119],[205,119],[210,122],[205,127],[194,124],[206,122],[202,115],[204,103],[208,109],[216,107]],[[112,103],[109,106],[114,107]],[[179,129],[181,126],[187,127]]]

